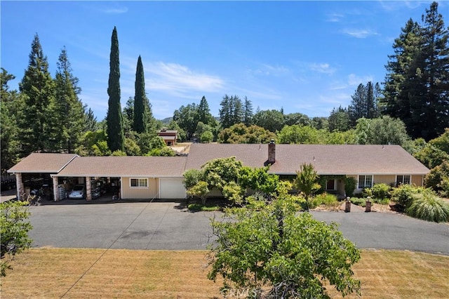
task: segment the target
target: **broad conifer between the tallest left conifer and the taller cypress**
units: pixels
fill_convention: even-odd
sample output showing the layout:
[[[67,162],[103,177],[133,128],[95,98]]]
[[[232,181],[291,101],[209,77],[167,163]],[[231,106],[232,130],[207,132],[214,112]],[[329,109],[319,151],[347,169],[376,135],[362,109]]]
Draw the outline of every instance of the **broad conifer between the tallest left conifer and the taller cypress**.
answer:
[[[72,74],[72,67],[67,57],[67,51],[62,49],[58,58],[58,69],[55,78],[55,108],[56,130],[55,145],[62,152],[73,152],[81,143],[81,135],[85,128],[83,117],[83,103],[78,95],[81,88],[78,86],[78,78]]]

